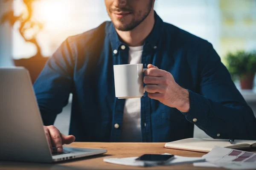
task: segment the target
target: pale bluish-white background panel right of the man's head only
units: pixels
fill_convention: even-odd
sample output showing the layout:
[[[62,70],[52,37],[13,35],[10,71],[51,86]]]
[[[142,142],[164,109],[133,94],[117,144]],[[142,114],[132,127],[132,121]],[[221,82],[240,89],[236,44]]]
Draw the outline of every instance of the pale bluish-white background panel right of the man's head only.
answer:
[[[157,0],[157,14],[171,23],[212,43],[219,50],[219,0]]]

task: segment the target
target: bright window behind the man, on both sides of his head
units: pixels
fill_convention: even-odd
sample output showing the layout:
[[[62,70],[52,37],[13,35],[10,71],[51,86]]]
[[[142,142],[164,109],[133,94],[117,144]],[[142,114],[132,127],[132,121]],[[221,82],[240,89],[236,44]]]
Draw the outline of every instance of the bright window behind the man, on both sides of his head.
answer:
[[[209,40],[218,48],[218,3],[216,0],[157,0],[155,10],[165,22]],[[15,0],[16,13],[22,10]],[[67,37],[99,26],[108,17],[102,0],[39,0],[35,3],[35,17],[44,21],[38,41],[44,56],[50,56]],[[29,58],[36,48],[24,42],[19,32],[13,32],[15,59]]]

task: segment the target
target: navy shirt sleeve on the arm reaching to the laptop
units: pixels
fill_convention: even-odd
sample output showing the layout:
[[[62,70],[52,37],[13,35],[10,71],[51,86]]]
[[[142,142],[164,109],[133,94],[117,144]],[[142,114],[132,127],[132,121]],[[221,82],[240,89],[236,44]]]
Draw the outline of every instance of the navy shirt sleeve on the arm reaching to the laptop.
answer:
[[[68,39],[50,57],[35,81],[34,90],[44,125],[53,125],[72,92],[73,65]]]

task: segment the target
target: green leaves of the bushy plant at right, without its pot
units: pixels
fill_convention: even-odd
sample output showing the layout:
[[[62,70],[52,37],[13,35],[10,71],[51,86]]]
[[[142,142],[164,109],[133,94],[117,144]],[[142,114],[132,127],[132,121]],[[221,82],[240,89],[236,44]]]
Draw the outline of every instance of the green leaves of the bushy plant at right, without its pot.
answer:
[[[256,51],[237,51],[236,53],[228,53],[225,59],[227,62],[227,69],[230,71],[233,79],[237,79],[244,74],[256,73]]]

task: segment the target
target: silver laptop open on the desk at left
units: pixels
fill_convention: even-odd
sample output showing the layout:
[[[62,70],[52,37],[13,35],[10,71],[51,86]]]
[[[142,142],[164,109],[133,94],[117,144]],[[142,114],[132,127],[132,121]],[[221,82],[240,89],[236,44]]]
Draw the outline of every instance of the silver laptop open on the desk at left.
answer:
[[[22,67],[0,67],[0,160],[50,163],[107,152],[63,149],[57,155],[49,149],[29,72]]]

